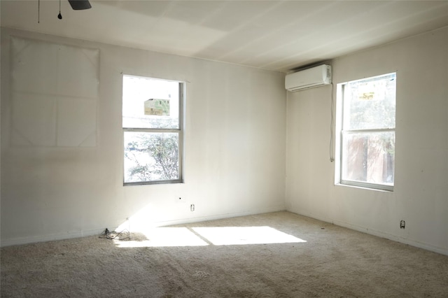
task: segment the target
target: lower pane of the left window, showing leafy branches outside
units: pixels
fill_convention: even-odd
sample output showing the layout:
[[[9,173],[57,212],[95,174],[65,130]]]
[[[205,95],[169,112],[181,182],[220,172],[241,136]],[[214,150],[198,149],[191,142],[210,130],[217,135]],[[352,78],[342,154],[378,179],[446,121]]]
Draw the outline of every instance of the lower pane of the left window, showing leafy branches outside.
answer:
[[[179,134],[125,132],[125,183],[179,179]]]

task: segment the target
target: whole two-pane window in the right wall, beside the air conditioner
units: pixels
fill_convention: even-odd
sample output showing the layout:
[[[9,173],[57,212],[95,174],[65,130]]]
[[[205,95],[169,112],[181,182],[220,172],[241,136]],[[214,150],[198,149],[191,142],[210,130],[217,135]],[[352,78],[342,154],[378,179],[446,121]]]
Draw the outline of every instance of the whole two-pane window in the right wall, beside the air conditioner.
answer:
[[[338,90],[340,183],[393,190],[395,73],[338,84]]]

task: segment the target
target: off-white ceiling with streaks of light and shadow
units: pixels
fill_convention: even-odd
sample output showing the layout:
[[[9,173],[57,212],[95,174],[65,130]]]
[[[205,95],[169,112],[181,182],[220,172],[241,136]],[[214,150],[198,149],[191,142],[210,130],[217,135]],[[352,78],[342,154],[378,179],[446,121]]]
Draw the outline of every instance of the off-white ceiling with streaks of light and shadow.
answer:
[[[1,0],[1,26],[288,72],[448,26],[448,1]]]

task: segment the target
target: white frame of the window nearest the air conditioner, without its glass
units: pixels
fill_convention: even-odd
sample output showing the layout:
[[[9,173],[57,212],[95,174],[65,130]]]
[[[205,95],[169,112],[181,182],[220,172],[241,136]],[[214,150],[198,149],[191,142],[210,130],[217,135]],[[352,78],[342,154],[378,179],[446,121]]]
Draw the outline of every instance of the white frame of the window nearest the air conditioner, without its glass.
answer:
[[[344,120],[346,115],[344,115],[344,111],[345,111],[345,104],[346,104],[346,96],[344,94],[344,88],[346,87],[346,85],[348,85],[349,83],[356,83],[356,82],[362,82],[364,80],[372,80],[374,78],[381,78],[381,77],[386,77],[386,76],[391,76],[391,75],[395,75],[395,125],[394,127],[387,127],[387,128],[369,128],[369,129],[345,129],[344,127]],[[359,133],[365,133],[366,136],[369,133],[384,133],[384,132],[393,132],[393,139],[394,139],[394,147],[396,144],[396,140],[395,140],[395,136],[396,136],[396,100],[397,100],[397,85],[396,85],[396,80],[397,80],[397,72],[393,71],[390,73],[384,73],[381,75],[377,75],[377,76],[370,76],[370,77],[366,77],[366,78],[361,78],[358,80],[350,80],[350,81],[346,81],[344,83],[338,83],[337,84],[337,129],[336,132],[339,132],[339,135],[337,137],[337,143],[336,143],[336,156],[338,156],[339,158],[336,160],[336,164],[335,164],[335,169],[336,169],[336,173],[335,173],[335,184],[336,185],[346,185],[346,186],[352,186],[352,187],[361,187],[361,188],[365,188],[365,189],[369,189],[369,190],[383,190],[383,191],[388,191],[388,192],[393,192],[393,188],[395,185],[395,177],[393,180],[393,183],[391,184],[385,184],[385,183],[372,183],[372,182],[363,182],[363,181],[357,181],[357,180],[349,180],[349,179],[343,179],[344,177],[344,163],[345,163],[345,159],[344,159],[344,154],[346,153],[345,147],[344,147],[344,143],[345,143],[345,138],[347,136],[349,136],[350,134],[359,134]],[[395,149],[394,149],[394,155],[395,155]],[[394,172],[394,176],[395,176],[395,159],[393,162],[393,172]]]

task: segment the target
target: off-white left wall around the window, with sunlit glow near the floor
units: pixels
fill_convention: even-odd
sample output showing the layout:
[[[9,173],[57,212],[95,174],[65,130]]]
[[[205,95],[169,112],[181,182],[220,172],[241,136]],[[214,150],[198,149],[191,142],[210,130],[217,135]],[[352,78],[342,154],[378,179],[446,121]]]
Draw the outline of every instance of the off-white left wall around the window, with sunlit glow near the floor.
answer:
[[[99,49],[94,146],[11,141],[11,35]],[[123,187],[122,73],[188,82],[185,183]],[[127,218],[132,229],[138,221],[167,225],[284,210],[283,82],[283,73],[2,28],[1,245],[95,234]],[[45,113],[37,120],[47,121]]]

